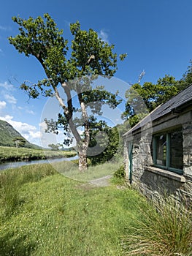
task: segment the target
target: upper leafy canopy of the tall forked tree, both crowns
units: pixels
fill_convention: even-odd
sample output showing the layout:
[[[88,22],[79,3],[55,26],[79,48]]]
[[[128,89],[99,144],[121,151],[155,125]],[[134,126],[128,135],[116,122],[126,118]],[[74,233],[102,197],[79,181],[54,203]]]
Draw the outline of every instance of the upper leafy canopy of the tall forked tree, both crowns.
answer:
[[[112,53],[114,45],[108,45],[101,40],[96,31],[80,29],[80,23],[71,24],[70,29],[74,39],[71,45],[71,57],[66,59],[69,46],[68,40],[64,39],[63,31],[56,27],[50,15],[44,18],[13,17],[18,23],[20,34],[9,37],[9,42],[15,46],[19,53],[26,56],[35,56],[45,69],[47,79],[37,84],[28,86],[23,83],[22,89],[29,96],[37,98],[47,93],[47,88],[53,91],[58,83],[81,78],[84,75],[110,75],[117,69],[117,54]]]

